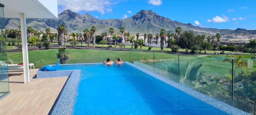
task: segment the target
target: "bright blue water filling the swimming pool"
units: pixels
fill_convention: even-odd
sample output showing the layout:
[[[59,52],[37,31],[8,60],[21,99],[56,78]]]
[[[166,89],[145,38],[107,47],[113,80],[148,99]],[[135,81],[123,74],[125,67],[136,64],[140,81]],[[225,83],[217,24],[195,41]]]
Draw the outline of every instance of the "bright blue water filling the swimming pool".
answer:
[[[128,64],[64,65],[81,69],[73,114],[91,115],[226,115]]]

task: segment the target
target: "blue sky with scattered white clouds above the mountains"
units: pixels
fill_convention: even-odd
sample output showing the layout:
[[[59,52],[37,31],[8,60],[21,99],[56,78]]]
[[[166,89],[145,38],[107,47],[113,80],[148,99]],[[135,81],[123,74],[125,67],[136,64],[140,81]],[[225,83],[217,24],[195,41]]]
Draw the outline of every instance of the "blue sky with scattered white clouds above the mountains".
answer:
[[[205,28],[256,29],[256,0],[58,0],[58,12],[66,9],[99,19],[129,18],[145,9]]]

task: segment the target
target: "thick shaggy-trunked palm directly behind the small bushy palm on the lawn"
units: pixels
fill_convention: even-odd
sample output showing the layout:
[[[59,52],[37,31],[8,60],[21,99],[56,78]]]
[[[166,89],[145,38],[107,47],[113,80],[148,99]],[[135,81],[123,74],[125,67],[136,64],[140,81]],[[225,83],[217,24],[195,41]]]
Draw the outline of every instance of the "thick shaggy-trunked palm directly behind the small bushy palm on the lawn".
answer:
[[[57,28],[58,30],[58,44],[60,48],[63,48],[63,44],[65,42],[65,33],[66,33],[66,27],[63,24],[60,24],[59,27]]]

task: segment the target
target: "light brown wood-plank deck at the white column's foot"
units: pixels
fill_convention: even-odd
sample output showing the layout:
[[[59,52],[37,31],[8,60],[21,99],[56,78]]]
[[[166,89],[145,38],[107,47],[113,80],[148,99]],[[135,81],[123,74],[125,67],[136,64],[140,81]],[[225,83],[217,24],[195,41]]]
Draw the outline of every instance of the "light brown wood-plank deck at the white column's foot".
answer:
[[[36,75],[30,72],[30,78]],[[9,72],[10,94],[0,100],[0,114],[48,114],[68,77],[30,79],[24,84],[23,71]]]

